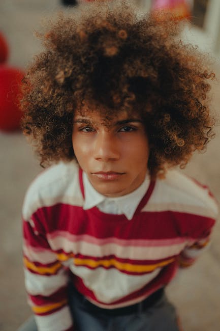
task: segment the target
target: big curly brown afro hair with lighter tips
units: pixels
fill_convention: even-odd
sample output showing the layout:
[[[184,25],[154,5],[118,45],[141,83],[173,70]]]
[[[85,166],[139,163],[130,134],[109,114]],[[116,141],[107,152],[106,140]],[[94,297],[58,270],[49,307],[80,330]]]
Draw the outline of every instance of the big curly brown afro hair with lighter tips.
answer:
[[[138,113],[150,145],[152,176],[184,167],[213,136],[204,54],[180,39],[183,23],[162,12],[140,15],[127,1],[93,2],[59,14],[41,34],[45,50],[28,68],[22,128],[41,165],[75,158],[75,109],[105,118]]]

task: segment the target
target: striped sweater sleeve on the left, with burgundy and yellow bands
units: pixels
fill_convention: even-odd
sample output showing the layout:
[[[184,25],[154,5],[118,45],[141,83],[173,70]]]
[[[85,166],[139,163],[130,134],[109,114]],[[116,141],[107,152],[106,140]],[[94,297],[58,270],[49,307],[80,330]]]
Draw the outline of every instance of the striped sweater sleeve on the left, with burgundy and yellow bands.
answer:
[[[39,331],[73,331],[68,306],[68,270],[42,233],[36,213],[23,219],[23,261],[28,303]]]

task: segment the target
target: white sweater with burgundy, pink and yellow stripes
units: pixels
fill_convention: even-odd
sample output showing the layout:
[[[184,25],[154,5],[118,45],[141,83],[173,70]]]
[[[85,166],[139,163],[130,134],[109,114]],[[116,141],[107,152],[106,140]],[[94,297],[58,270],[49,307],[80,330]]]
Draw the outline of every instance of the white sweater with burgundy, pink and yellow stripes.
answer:
[[[207,187],[172,170],[151,181],[132,220],[83,209],[82,171],[58,163],[30,185],[23,204],[24,272],[40,331],[74,330],[73,282],[93,304],[119,308],[165,286],[209,241],[217,205]]]

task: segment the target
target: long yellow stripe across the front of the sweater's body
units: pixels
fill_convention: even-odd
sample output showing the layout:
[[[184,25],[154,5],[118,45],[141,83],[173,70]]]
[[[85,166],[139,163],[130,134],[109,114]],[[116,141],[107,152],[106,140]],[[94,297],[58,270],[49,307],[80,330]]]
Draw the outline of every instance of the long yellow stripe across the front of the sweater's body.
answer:
[[[115,259],[99,260],[99,261],[95,261],[91,259],[78,259],[78,258],[74,259],[75,265],[87,265],[91,268],[97,268],[99,266],[104,266],[106,268],[109,268],[111,266],[114,266],[119,270],[129,271],[129,272],[149,272],[149,271],[153,271],[158,267],[163,267],[173,261],[174,258],[150,265],[141,265],[141,264],[137,265],[131,263],[118,262]]]

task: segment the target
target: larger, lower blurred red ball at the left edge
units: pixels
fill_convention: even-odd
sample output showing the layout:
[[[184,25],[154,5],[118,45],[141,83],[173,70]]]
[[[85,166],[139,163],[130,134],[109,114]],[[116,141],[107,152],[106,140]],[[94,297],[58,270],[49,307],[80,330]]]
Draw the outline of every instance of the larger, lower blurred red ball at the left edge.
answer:
[[[22,112],[18,99],[23,77],[24,72],[18,68],[0,66],[0,130],[13,131],[20,128]]]

